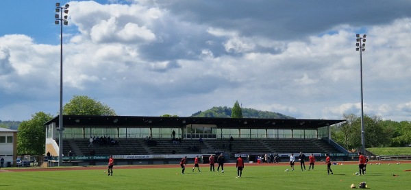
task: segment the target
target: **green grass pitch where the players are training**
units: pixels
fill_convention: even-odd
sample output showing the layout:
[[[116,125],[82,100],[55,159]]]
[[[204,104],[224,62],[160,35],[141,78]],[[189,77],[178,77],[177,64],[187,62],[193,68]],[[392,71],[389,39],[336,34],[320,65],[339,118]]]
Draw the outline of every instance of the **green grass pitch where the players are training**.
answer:
[[[318,163],[314,171],[284,171],[288,166],[246,165],[242,178],[236,168],[226,166],[225,173],[192,172],[191,165],[182,175],[180,168],[117,169],[106,176],[103,169],[80,171],[0,172],[0,189],[349,189],[365,181],[371,189],[408,189],[411,164],[368,165],[365,176],[353,175],[358,165],[332,165],[334,175]],[[308,168],[308,167],[307,167]],[[393,174],[399,177],[393,177]]]

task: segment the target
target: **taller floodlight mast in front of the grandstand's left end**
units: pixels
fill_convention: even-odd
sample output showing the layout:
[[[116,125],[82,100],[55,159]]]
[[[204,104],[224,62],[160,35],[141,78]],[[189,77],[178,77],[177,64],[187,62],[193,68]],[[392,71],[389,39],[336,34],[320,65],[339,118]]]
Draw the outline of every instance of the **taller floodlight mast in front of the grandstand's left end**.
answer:
[[[60,3],[55,3],[55,21],[58,25],[60,23],[60,111],[58,116],[58,165],[63,165],[63,24],[67,25],[67,15],[63,16],[63,10],[65,14],[69,13],[69,4],[60,7]],[[58,14],[60,13],[60,14]]]

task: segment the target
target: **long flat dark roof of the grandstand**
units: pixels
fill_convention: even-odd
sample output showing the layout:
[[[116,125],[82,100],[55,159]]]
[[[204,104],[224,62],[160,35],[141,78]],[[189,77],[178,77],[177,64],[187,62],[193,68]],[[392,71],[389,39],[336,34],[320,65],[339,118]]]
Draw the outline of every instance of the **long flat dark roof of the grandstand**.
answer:
[[[58,123],[54,117],[45,125]],[[145,116],[89,116],[64,115],[64,128],[182,128],[189,124],[215,125],[217,128],[236,129],[316,129],[345,120],[333,119],[256,119],[221,117],[145,117]]]

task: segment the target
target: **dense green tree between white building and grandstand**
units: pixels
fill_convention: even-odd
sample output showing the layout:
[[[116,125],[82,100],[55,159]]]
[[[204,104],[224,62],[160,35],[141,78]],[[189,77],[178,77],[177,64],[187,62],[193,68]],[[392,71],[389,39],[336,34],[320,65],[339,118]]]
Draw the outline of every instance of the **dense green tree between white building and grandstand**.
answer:
[[[32,119],[18,126],[17,154],[45,154],[45,123],[53,117],[45,112],[36,112]]]

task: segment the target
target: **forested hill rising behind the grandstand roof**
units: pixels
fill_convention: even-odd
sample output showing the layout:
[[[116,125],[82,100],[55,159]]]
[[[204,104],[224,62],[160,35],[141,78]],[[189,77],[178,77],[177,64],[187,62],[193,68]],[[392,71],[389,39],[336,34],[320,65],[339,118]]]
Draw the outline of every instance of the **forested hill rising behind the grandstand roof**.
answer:
[[[243,118],[262,118],[262,119],[295,119],[287,115],[282,115],[277,112],[261,111],[252,108],[241,108]],[[205,111],[199,111],[191,115],[191,117],[231,117],[232,108],[213,107]]]

